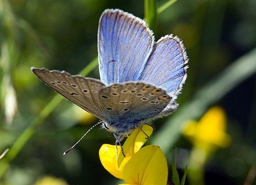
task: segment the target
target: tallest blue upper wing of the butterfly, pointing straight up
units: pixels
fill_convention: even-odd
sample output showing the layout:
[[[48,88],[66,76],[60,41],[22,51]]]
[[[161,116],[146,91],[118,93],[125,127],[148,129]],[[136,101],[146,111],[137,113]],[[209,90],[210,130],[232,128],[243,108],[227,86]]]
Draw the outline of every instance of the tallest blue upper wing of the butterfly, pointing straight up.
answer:
[[[119,9],[105,10],[98,30],[101,80],[105,84],[137,81],[153,44],[145,21]]]

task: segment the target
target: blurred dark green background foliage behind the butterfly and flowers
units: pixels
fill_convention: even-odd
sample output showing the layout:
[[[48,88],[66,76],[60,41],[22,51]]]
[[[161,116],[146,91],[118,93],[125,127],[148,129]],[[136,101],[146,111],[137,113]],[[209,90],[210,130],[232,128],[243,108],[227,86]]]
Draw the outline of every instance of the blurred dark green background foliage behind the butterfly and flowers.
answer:
[[[98,120],[68,100],[58,104],[61,98],[30,71],[77,74],[94,60],[87,76],[99,79],[98,21],[108,8],[145,16],[143,0],[0,0],[0,154],[11,148],[0,159],[0,185],[33,185],[45,176],[63,179],[59,185],[117,184],[98,155],[103,143],[114,144],[112,134],[96,128],[62,156]],[[154,122],[148,143],[159,145],[169,163],[176,146],[182,174],[192,150],[181,134],[185,121],[221,106],[232,141],[205,164],[205,184],[252,185],[245,182],[256,174],[256,0],[178,0],[160,10],[156,40],[171,33],[183,39],[190,68],[179,109]]]

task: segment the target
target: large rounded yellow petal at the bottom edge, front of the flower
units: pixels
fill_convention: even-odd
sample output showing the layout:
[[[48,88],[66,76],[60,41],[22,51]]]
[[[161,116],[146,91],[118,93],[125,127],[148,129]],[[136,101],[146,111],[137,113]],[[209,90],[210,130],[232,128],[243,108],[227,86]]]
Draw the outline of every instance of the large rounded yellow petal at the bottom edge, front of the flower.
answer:
[[[135,185],[166,185],[168,167],[165,155],[155,145],[140,149],[123,169],[126,183]]]

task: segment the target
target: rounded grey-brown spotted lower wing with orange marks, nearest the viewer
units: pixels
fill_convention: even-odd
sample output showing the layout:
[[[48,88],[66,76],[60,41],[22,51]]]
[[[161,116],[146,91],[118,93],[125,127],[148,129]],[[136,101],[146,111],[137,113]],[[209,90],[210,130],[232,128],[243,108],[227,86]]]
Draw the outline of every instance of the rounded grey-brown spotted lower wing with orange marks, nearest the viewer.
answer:
[[[113,84],[99,93],[108,123],[120,128],[119,132],[128,132],[127,127],[158,115],[171,99],[163,89],[142,82]]]

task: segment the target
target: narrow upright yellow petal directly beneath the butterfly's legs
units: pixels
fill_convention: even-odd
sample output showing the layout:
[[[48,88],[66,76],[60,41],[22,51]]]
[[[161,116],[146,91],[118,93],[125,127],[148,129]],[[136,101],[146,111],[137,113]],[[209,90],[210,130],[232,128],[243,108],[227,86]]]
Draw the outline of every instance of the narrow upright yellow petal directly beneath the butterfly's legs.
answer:
[[[141,129],[147,134],[147,136],[150,136],[153,132],[153,127],[148,124],[142,125]],[[126,163],[133,156],[133,154],[135,154],[147,141],[146,135],[141,131],[141,129],[139,128],[135,129],[125,141],[123,145],[123,150],[126,157],[123,156],[122,152],[119,152],[119,156],[118,156],[119,168],[121,166],[124,166],[125,165],[124,163]]]

